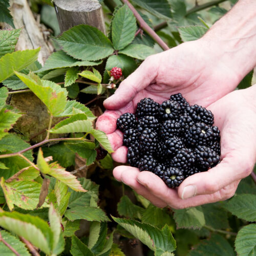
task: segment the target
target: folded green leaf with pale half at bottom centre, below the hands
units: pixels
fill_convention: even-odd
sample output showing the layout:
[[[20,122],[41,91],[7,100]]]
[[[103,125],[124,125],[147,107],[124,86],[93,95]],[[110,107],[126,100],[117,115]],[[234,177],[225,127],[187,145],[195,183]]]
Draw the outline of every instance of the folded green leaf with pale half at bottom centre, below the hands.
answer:
[[[115,217],[112,218],[115,222],[133,234],[133,236],[139,239],[143,244],[155,251],[156,256],[161,255],[164,252],[172,252],[176,248],[175,240],[167,225],[162,229],[159,229],[150,224],[134,220],[119,219]]]

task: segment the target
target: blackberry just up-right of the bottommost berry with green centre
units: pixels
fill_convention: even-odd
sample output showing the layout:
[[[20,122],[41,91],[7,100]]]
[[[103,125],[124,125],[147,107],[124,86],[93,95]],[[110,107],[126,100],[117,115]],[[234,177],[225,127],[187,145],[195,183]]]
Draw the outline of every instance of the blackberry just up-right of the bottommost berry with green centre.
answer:
[[[176,156],[172,159],[171,165],[184,173],[190,173],[194,169],[194,164],[196,162],[196,156],[191,150],[191,148],[182,148]]]

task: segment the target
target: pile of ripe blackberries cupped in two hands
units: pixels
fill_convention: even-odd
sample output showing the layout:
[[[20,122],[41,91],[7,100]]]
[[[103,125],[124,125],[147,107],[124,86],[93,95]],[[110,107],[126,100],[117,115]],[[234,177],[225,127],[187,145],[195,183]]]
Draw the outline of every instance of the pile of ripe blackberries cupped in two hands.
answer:
[[[212,124],[209,110],[189,105],[180,93],[162,104],[144,98],[135,114],[117,119],[128,148],[127,162],[153,172],[171,188],[220,162],[220,131]]]

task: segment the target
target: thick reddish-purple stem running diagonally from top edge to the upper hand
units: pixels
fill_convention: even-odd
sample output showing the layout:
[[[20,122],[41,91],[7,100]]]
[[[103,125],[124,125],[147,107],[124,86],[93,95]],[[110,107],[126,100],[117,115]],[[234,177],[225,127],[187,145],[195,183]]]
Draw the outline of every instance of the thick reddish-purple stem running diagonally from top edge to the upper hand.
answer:
[[[138,20],[140,28],[146,31],[163,50],[168,50],[169,47],[165,44],[165,42],[160,38],[160,36],[150,27],[148,26],[144,19],[140,16],[140,14],[136,11],[133,5],[128,0],[121,0],[124,4],[126,4],[131,11],[133,12],[134,16]]]

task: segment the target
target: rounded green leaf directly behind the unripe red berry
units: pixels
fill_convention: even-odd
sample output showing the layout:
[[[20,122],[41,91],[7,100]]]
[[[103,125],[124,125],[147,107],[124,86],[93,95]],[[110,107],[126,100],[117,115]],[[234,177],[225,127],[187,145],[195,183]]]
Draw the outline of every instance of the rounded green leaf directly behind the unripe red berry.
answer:
[[[107,70],[110,71],[112,68],[118,67],[122,69],[124,77],[129,76],[137,67],[135,60],[132,57],[125,56],[123,54],[112,55],[106,61],[106,67],[104,72],[104,82],[108,82],[110,76]]]

